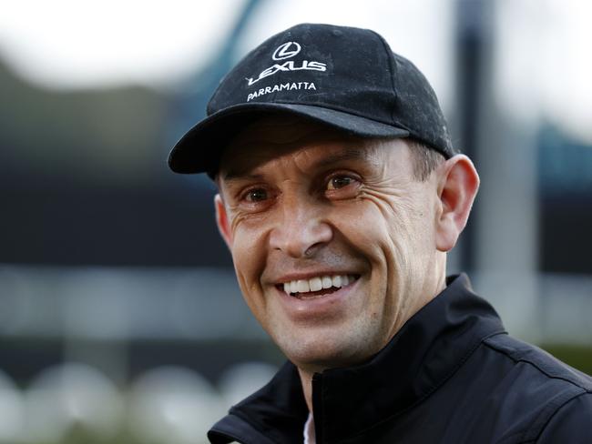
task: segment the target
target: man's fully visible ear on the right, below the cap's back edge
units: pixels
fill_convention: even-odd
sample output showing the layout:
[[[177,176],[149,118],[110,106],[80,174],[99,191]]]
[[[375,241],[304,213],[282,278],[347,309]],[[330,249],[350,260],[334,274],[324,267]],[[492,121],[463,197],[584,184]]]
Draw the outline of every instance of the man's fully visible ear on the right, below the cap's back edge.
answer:
[[[436,215],[435,241],[438,250],[449,251],[466,225],[479,188],[479,175],[471,159],[464,155],[449,158],[438,169],[441,211]]]

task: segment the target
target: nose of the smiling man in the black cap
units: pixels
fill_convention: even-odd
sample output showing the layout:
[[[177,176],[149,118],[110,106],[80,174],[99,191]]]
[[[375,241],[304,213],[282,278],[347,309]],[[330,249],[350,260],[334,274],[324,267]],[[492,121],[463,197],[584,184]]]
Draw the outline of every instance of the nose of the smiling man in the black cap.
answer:
[[[311,257],[333,236],[324,220],[325,211],[314,202],[291,199],[283,203],[276,227],[270,233],[270,247],[290,257]]]

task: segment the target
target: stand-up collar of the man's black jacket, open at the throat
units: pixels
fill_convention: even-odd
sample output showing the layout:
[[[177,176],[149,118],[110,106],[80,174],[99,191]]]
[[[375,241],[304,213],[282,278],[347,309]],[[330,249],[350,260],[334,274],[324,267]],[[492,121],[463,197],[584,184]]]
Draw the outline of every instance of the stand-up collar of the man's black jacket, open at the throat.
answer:
[[[504,331],[494,308],[475,295],[464,274],[448,278],[447,284],[368,362],[314,375],[318,442],[355,436],[412,408],[450,378],[484,338]],[[307,414],[298,371],[291,363],[230,409],[234,420],[247,421],[275,442],[301,439]],[[230,417],[214,430],[228,429]]]

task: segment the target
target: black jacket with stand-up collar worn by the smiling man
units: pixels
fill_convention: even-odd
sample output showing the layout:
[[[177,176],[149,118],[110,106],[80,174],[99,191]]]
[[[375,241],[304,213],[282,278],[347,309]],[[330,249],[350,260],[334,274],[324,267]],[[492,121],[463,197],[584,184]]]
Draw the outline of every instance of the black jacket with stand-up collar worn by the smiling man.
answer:
[[[592,442],[592,378],[509,337],[464,275],[369,362],[314,375],[312,405],[318,444]],[[209,439],[301,444],[307,415],[286,363]]]

